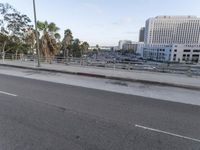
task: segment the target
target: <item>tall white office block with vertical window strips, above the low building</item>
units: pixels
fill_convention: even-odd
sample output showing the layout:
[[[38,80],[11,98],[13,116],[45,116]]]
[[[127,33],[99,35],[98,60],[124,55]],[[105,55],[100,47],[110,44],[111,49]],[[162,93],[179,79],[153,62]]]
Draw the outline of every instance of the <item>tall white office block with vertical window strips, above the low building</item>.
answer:
[[[158,16],[146,21],[145,44],[198,44],[200,18]]]

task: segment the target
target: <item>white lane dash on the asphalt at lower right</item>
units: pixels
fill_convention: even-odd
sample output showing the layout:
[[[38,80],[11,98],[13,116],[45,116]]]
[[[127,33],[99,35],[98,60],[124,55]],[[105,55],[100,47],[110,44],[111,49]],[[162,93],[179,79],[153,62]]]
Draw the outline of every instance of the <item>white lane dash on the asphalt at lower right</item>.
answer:
[[[162,131],[162,130],[158,130],[158,129],[153,129],[153,128],[149,128],[149,127],[145,127],[145,126],[141,126],[141,125],[137,125],[137,124],[135,125],[135,127],[200,143],[199,139],[195,139],[195,138],[191,138],[191,137],[187,137],[187,136],[183,136],[183,135],[179,135],[179,134],[175,134],[175,133],[170,133],[170,132],[166,132],[166,131]]]

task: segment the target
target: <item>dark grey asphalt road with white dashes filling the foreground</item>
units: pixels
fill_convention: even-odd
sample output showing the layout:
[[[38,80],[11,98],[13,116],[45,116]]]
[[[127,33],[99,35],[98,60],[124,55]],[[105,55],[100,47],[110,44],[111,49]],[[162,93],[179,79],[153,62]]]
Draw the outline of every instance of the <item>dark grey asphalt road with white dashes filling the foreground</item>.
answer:
[[[0,75],[1,150],[200,150],[200,107]]]

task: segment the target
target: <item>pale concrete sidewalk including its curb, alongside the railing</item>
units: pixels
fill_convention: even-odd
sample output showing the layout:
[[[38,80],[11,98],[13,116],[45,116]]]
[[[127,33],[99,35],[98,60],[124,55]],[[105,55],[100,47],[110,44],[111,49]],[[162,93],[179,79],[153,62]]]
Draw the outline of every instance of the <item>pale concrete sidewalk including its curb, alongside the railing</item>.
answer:
[[[188,77],[180,74],[67,66],[64,64],[42,64],[40,68],[37,68],[34,62],[26,61],[5,61],[4,64],[0,62],[0,65],[200,90],[200,77]]]

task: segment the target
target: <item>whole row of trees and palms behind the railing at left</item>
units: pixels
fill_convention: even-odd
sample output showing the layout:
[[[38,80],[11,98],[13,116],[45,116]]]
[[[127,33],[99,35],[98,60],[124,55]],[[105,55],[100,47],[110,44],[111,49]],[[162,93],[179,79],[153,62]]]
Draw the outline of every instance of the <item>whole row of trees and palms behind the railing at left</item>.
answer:
[[[66,29],[63,38],[60,28],[54,22],[37,21],[39,30],[40,53],[44,58],[53,58],[61,54],[64,57],[81,57],[88,52],[88,42],[73,37],[72,31]],[[7,3],[0,3],[0,54],[34,54],[36,31],[30,18],[18,12]]]

